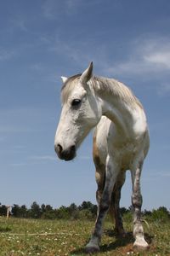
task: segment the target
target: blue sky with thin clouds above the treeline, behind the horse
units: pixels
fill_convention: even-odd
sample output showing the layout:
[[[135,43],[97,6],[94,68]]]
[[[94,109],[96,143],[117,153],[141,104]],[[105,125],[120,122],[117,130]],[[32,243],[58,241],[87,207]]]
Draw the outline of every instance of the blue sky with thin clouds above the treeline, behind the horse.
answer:
[[[170,2],[0,1],[0,201],[53,207],[95,203],[92,134],[71,162],[54,154],[60,76],[96,75],[131,87],[144,105],[150,153],[143,208],[169,206]],[[122,207],[131,205],[131,180]]]

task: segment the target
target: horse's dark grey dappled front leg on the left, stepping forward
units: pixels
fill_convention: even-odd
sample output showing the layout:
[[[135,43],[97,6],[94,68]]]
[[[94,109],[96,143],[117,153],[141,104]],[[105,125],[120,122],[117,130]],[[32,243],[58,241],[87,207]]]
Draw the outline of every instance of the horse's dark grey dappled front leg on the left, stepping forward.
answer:
[[[91,239],[86,246],[86,253],[94,253],[99,251],[99,242],[102,235],[102,224],[111,203],[111,193],[116,182],[118,166],[114,163],[110,156],[107,157],[105,169],[105,189],[103,191],[101,200],[99,201],[99,212],[95,222],[94,232],[92,233]]]

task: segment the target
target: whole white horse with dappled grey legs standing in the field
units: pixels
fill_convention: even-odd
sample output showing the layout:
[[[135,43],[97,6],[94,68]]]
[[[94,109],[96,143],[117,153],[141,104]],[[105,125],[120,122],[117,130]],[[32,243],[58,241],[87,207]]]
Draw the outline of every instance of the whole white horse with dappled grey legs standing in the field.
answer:
[[[141,222],[142,195],[140,175],[150,139],[144,108],[126,85],[115,79],[93,76],[93,62],[82,74],[62,77],[62,112],[54,148],[61,160],[72,160],[88,132],[94,131],[94,164],[98,214],[87,253],[99,251],[102,224],[110,209],[116,231],[123,235],[119,208],[122,185],[127,170],[133,183],[133,247],[146,250]]]

